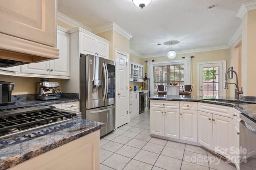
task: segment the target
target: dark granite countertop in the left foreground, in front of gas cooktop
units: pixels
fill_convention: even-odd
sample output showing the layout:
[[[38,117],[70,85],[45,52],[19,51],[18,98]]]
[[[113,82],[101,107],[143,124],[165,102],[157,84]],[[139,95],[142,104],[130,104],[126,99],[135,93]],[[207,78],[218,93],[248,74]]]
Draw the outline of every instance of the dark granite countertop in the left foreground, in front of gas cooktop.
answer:
[[[71,123],[66,123],[65,125],[66,128],[62,128],[56,132],[34,137],[31,138],[31,140],[23,142],[16,142],[15,144],[10,144],[10,146],[6,145],[0,147],[0,170],[6,170],[12,166],[18,165],[105,126],[104,123],[81,118],[78,118]],[[15,136],[12,138],[15,138]]]

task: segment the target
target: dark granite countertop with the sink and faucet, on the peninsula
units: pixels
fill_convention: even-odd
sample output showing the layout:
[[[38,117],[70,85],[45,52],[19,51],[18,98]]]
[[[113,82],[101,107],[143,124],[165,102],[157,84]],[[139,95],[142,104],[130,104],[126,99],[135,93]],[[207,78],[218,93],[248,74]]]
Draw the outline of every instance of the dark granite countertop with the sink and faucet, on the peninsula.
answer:
[[[236,108],[238,111],[243,113],[244,115],[252,118],[256,121],[256,99],[239,99],[236,100],[234,97],[202,97],[202,96],[192,96],[192,95],[155,95],[149,97],[149,99],[153,100],[170,100],[170,101],[196,101],[196,102],[203,102],[203,103],[211,103],[216,105],[224,105]],[[221,99],[225,102],[221,101],[214,101],[214,100],[207,100],[207,99]],[[230,101],[230,103],[228,103]],[[232,101],[240,101],[242,104],[232,103]],[[255,103],[255,104],[246,104],[248,103]]]

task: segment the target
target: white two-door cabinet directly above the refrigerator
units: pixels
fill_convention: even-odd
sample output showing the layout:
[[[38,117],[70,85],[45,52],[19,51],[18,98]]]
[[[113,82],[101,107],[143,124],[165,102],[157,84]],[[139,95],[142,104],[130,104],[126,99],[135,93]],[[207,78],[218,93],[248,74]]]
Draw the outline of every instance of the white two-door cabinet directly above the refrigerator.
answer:
[[[80,32],[80,53],[97,55],[99,57],[108,58],[109,42],[92,35],[91,32]]]

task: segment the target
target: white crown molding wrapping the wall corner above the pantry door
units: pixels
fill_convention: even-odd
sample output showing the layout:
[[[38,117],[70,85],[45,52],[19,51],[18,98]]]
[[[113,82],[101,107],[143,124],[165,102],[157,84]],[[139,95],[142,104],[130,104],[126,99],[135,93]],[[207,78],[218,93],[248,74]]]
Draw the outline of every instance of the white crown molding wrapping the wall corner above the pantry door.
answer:
[[[97,28],[94,28],[92,30],[92,32],[94,34],[99,34],[102,32],[106,32],[109,30],[114,30],[116,32],[118,32],[119,34],[121,34],[122,36],[124,36],[125,38],[127,38],[128,40],[130,40],[132,38],[132,34],[130,34],[129,32],[127,32],[126,30],[124,30],[122,27],[118,26],[116,23],[112,22]]]

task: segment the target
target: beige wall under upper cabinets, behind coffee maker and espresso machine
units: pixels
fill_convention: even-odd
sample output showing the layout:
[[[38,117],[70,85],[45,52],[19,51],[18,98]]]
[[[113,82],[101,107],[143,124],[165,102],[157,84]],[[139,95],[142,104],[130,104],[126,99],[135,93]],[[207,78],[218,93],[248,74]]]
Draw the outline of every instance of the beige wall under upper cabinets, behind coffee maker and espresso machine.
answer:
[[[1,81],[13,82],[14,89],[12,95],[36,94],[36,82],[40,82],[35,77],[17,77],[10,75],[0,75]],[[51,82],[59,82],[61,79],[49,79]],[[59,87],[61,88],[61,86]]]

